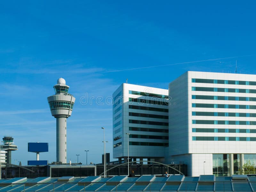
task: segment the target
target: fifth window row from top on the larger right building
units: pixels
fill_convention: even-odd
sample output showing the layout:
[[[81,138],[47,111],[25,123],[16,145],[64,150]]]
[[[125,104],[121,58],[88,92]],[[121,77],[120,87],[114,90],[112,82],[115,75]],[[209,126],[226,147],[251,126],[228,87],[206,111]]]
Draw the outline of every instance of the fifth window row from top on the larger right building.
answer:
[[[192,116],[256,117],[256,113],[230,113],[230,112],[192,111]]]

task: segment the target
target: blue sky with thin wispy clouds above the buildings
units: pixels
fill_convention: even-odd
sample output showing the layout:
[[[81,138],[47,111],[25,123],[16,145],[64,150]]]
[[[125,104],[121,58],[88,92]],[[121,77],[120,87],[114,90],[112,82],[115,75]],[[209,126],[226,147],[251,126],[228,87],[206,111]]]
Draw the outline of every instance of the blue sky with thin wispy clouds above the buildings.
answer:
[[[102,126],[112,157],[112,106],[82,105],[83,96],[106,99],[126,78],[167,89],[188,70],[234,73],[236,60],[238,73],[256,73],[254,1],[177,2],[1,1],[0,136],[18,145],[12,163],[36,159],[28,142],[49,142],[40,159],[55,161],[46,98],[59,77],[76,97],[67,158],[84,163],[89,150],[88,162],[100,163]]]

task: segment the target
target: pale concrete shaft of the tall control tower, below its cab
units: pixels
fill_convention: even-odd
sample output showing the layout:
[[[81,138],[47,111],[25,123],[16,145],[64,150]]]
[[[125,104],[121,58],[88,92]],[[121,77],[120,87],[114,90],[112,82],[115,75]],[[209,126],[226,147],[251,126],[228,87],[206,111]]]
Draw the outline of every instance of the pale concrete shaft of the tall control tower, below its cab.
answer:
[[[67,163],[67,118],[66,117],[56,117],[56,156],[57,156],[57,162]]]

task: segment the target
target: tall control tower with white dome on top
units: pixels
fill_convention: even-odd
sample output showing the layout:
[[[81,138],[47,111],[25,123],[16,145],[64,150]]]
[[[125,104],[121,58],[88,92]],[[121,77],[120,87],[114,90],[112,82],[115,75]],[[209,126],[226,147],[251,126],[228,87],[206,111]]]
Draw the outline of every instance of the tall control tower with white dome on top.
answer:
[[[53,88],[55,95],[47,100],[56,118],[56,161],[67,163],[67,118],[71,116],[76,98],[68,93],[69,86],[63,78],[59,78]]]

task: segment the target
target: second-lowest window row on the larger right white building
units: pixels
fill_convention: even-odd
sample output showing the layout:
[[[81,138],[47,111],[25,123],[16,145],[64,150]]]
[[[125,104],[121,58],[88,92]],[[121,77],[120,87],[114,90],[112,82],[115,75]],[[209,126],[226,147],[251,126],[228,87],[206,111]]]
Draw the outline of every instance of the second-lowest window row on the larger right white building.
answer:
[[[199,133],[256,133],[256,129],[192,128],[192,132],[199,132]]]

